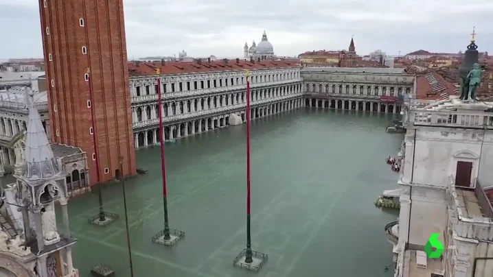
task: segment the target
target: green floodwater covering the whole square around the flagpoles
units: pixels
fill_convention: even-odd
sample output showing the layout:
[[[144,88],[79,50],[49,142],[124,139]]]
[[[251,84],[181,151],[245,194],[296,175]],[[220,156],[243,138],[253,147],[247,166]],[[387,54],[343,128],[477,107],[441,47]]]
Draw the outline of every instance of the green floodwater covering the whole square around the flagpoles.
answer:
[[[146,175],[126,181],[134,276],[393,276],[385,224],[397,213],[374,207],[397,175],[385,163],[402,134],[392,115],[301,108],[252,123],[252,248],[268,254],[256,274],[233,267],[246,244],[246,125],[166,145],[170,228],[186,232],[173,248],[151,242],[163,228],[159,146],[137,151]],[[74,265],[80,276],[105,263],[130,276],[122,189],[103,189],[115,223],[87,223],[98,196],[69,202]],[[392,267],[393,268],[393,267]]]

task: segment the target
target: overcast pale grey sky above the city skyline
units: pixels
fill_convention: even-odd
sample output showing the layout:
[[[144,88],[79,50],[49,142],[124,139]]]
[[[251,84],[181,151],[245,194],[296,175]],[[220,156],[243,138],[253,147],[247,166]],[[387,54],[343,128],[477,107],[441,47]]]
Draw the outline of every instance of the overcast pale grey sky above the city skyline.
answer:
[[[129,58],[242,57],[264,29],[277,56],[347,49],[351,36],[359,55],[457,53],[473,26],[493,54],[492,0],[124,0],[124,10]],[[0,59],[43,56],[38,0],[0,0],[0,26]]]

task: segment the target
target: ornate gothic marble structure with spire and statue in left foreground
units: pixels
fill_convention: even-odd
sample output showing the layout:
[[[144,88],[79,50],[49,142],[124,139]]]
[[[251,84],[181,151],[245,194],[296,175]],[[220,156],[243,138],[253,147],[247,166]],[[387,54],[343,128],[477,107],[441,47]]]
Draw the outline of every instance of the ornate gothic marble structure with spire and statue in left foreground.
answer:
[[[31,92],[31,91],[29,91]],[[0,197],[0,275],[78,277],[73,267],[64,162],[49,144],[34,101],[28,101],[25,151],[18,152],[14,177]],[[63,230],[56,224],[60,204]]]

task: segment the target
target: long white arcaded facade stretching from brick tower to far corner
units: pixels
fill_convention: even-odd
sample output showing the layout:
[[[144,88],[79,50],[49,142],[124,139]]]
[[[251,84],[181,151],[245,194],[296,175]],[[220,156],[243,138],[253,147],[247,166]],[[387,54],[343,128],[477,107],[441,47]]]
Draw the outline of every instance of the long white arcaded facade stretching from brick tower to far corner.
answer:
[[[164,139],[183,138],[228,125],[229,115],[244,118],[244,71],[161,75]],[[251,71],[252,117],[303,106],[299,68]],[[131,77],[135,147],[159,143],[157,77]]]

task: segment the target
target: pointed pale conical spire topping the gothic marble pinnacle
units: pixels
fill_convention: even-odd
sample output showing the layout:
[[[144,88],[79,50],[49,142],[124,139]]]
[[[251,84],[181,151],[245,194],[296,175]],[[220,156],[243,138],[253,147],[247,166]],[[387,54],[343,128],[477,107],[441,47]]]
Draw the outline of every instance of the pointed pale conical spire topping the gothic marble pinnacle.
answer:
[[[26,180],[45,180],[58,175],[58,166],[49,141],[46,136],[45,128],[41,123],[41,117],[34,106],[33,94],[30,88],[25,88],[28,93],[29,118],[27,121],[27,132],[25,135],[25,171]]]

